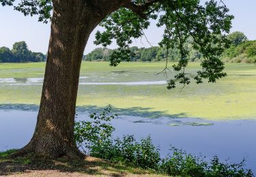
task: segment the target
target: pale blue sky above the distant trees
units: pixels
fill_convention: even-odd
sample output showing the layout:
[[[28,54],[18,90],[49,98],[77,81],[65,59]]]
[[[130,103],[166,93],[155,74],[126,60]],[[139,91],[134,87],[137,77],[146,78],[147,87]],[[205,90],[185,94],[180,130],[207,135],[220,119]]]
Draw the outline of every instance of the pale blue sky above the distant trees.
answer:
[[[205,1],[205,0],[203,0]],[[229,7],[229,14],[233,14],[233,27],[231,31],[242,31],[248,39],[256,39],[256,0],[223,0]],[[91,33],[85,54],[100,47],[94,45],[94,36],[100,27],[97,27]],[[156,22],[145,31],[148,41],[152,46],[157,46],[162,39],[162,28],[156,27]],[[48,40],[50,37],[50,24],[38,22],[37,16],[23,16],[16,12],[12,7],[0,7],[0,47],[6,46],[12,49],[14,42],[25,41],[29,50],[33,52],[46,53],[48,49]],[[134,40],[131,46],[150,47],[145,38]],[[115,44],[109,48],[116,48]]]

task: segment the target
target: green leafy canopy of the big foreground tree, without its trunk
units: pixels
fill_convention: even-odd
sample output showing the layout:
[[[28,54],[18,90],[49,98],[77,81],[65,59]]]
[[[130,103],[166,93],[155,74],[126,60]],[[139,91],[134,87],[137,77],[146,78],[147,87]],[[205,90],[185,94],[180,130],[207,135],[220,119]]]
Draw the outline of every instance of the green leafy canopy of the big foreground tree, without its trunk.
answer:
[[[2,5],[14,5],[15,0],[0,0]],[[25,15],[39,15],[39,20],[47,22],[51,18],[50,0],[23,0],[14,9]],[[189,37],[192,46],[203,57],[201,70],[194,77],[197,84],[203,79],[216,82],[226,76],[224,63],[219,59],[229,46],[227,33],[231,29],[233,16],[223,1],[210,0],[201,5],[199,0],[124,0],[119,10],[109,14],[100,22],[104,31],[96,33],[95,44],[106,47],[113,40],[119,46],[111,54],[111,65],[117,66],[121,61],[130,61],[134,55],[129,46],[133,38],[144,35],[143,30],[150,26],[151,20],[158,20],[157,27],[165,27],[159,45],[165,48],[168,59],[170,48],[178,47],[180,60],[173,69],[177,72],[169,80],[167,88],[175,88],[176,83],[190,84],[185,68],[188,65],[188,49],[184,47]],[[167,60],[168,61],[168,60]],[[166,65],[167,66],[167,65]],[[168,71],[166,67],[163,72]]]

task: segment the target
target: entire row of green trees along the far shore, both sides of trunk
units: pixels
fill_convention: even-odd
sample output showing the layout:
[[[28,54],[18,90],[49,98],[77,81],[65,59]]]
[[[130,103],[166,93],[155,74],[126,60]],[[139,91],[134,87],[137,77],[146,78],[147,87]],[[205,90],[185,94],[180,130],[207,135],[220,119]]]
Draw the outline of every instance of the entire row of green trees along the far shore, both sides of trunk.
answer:
[[[230,48],[225,50],[221,59],[231,63],[256,63],[256,40],[249,41],[244,33],[236,31],[228,35]],[[188,50],[189,61],[200,61],[202,55],[192,47],[193,39],[189,38],[185,44]],[[152,46],[150,48],[131,47],[130,61],[164,61],[167,58],[165,48]],[[109,61],[115,49],[96,48],[83,57],[84,61]],[[169,49],[168,60],[179,61],[180,52],[177,47]],[[0,48],[0,63],[23,63],[46,61],[46,55],[41,52],[31,52],[26,42],[16,42],[12,50],[7,47]]]

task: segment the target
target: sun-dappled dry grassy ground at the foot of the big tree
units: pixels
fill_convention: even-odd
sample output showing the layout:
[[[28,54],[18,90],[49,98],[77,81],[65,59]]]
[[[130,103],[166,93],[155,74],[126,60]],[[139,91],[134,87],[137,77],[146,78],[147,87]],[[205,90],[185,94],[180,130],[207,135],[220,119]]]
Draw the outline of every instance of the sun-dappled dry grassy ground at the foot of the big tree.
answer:
[[[126,167],[94,157],[51,160],[33,154],[11,158],[16,150],[0,152],[0,176],[162,176],[148,170]]]

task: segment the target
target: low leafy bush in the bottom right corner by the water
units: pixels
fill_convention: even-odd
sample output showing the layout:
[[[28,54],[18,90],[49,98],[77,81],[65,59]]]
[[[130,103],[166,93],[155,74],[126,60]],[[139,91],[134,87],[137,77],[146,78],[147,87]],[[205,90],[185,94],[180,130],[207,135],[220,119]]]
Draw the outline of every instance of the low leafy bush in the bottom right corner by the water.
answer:
[[[215,156],[208,162],[203,157],[196,157],[177,148],[171,148],[169,157],[162,159],[160,170],[171,176],[253,176],[251,170],[244,169],[244,160],[240,163],[222,163]]]

